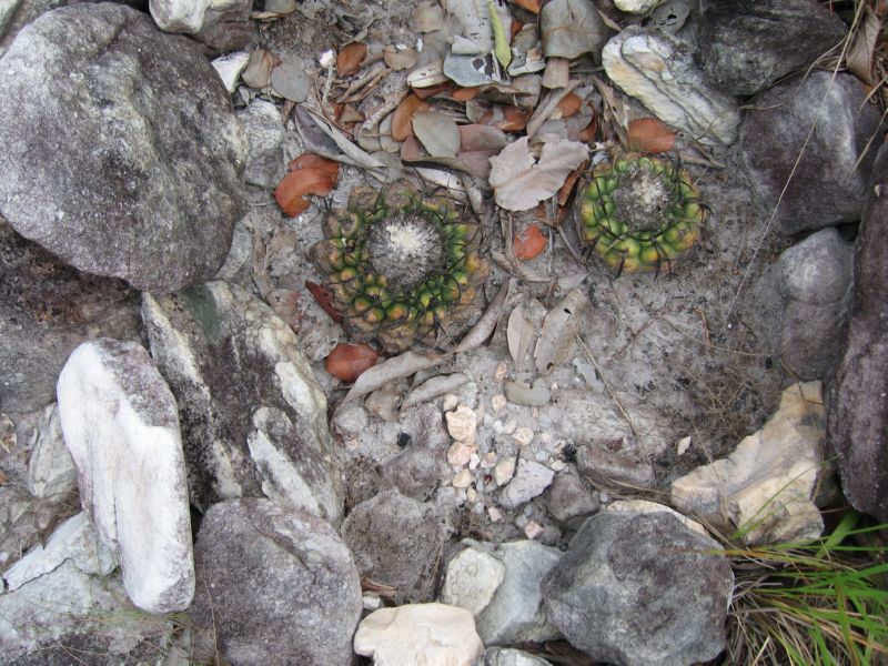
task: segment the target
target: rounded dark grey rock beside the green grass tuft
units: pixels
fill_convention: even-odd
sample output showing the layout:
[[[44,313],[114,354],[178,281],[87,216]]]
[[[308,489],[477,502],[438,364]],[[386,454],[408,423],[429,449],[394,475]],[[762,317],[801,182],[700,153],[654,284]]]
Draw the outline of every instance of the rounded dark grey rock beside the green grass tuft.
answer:
[[[546,613],[596,662],[708,662],[725,646],[734,587],[718,549],[665,513],[599,513],[543,581]]]

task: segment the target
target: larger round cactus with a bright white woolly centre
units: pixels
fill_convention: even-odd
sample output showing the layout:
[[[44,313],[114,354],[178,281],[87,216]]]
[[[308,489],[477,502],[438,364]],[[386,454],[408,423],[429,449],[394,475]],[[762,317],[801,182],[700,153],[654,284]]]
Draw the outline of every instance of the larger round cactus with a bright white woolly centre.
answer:
[[[477,313],[490,266],[464,215],[451,199],[424,199],[403,182],[357,188],[347,210],[327,215],[312,259],[351,337],[401,352],[434,344]]]

